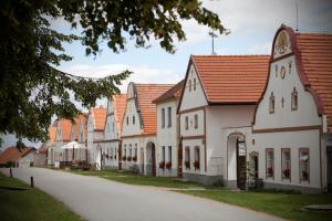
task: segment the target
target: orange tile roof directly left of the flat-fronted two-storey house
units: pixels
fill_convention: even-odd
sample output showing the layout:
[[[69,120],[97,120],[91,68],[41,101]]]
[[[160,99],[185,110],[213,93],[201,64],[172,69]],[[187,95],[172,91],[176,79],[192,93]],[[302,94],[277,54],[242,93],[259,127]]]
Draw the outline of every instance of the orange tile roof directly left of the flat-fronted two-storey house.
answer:
[[[156,134],[157,128],[157,107],[153,103],[174,84],[134,84],[137,93],[138,110],[143,118],[144,135]]]

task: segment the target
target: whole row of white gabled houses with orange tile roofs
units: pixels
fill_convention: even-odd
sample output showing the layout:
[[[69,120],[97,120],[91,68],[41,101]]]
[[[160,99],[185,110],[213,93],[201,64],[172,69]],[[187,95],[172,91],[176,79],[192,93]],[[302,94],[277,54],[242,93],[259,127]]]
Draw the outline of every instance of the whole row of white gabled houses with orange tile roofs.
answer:
[[[270,55],[191,55],[178,84],[129,83],[107,108],[93,107],[76,124],[56,120],[50,137],[49,147],[85,145],[82,159],[97,169],[328,191],[332,35],[281,25]],[[63,160],[53,151],[49,164]]]

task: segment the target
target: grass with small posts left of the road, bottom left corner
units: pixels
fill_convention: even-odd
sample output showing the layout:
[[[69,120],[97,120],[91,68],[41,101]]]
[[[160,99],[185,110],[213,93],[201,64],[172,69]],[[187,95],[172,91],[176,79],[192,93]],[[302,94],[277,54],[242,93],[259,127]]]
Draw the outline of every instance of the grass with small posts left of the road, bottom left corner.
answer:
[[[25,187],[24,182],[6,177],[0,172],[0,187]],[[51,196],[33,188],[28,190],[8,190],[0,188],[1,221],[76,221],[82,220],[61,202]]]

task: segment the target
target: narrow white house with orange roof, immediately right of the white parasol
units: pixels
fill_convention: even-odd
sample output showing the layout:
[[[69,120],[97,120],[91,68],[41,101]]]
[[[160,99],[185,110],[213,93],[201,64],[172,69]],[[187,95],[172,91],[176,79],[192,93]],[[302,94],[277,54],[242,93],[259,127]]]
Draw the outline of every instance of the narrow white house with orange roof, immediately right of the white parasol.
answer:
[[[106,122],[106,108],[91,107],[87,118],[86,146],[89,152],[89,162],[96,169],[102,169],[102,143],[104,139],[104,127]]]

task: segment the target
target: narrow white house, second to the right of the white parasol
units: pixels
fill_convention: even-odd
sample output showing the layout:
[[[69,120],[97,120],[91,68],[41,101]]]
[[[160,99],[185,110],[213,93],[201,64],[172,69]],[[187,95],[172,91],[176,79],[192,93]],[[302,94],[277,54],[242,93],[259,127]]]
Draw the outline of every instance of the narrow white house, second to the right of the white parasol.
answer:
[[[126,107],[127,95],[113,95],[107,102],[107,116],[104,128],[102,152],[104,168],[120,168],[120,149],[122,135],[122,120]]]

